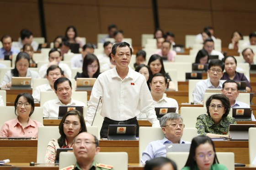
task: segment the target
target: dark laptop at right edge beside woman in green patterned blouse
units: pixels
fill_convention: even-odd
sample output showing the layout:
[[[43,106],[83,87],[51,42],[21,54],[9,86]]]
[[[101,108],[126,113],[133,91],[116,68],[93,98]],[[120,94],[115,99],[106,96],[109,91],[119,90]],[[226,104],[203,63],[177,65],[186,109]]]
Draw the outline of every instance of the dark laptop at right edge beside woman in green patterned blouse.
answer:
[[[255,128],[256,124],[229,124],[230,140],[248,140],[249,128]]]

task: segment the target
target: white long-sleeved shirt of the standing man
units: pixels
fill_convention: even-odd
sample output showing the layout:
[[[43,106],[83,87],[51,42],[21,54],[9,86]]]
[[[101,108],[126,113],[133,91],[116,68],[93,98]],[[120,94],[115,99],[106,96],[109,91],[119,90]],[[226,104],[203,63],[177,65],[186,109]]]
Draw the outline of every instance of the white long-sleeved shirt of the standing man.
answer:
[[[101,116],[112,120],[124,121],[145,113],[153,127],[160,127],[155,107],[145,77],[128,67],[128,74],[122,80],[116,67],[99,75],[91,91],[88,102],[86,124],[90,125],[99,104]]]

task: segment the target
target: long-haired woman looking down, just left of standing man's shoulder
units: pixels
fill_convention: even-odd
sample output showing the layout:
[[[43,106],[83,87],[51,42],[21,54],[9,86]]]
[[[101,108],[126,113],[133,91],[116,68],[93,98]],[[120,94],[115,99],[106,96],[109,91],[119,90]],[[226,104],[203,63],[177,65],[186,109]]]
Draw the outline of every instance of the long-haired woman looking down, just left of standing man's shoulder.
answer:
[[[100,63],[94,54],[87,54],[83,62],[83,72],[77,72],[76,78],[98,78],[100,74]]]

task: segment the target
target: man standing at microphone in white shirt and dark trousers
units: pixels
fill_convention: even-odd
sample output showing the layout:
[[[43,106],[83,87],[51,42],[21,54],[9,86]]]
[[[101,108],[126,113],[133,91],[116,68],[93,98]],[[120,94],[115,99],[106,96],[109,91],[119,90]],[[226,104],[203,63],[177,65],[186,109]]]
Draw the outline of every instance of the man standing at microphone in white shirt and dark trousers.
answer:
[[[101,73],[97,78],[88,102],[86,125],[91,125],[97,103],[102,97],[98,108],[104,117],[101,138],[107,138],[109,124],[136,124],[136,135],[139,136],[136,119],[139,113],[145,113],[153,127],[160,127],[145,77],[128,66],[132,57],[130,45],[127,42],[114,44],[111,57],[116,67]]]

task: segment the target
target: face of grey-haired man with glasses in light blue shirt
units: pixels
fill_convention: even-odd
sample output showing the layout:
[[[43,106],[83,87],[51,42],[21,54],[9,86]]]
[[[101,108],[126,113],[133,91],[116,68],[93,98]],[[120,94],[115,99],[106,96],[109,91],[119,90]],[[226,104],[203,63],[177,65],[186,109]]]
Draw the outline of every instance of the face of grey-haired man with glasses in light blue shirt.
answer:
[[[165,127],[162,127],[162,131],[165,134],[165,137],[171,142],[179,141],[182,137],[184,129],[181,118],[173,120],[169,119],[166,121],[165,125]]]

